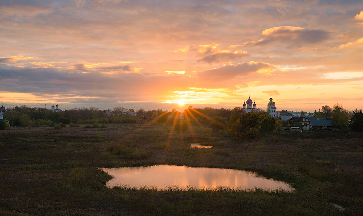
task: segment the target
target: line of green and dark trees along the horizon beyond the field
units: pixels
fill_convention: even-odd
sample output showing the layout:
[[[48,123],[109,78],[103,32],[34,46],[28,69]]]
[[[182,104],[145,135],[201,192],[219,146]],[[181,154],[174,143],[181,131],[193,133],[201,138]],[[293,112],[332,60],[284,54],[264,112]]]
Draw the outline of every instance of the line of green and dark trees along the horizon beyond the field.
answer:
[[[136,112],[136,116],[130,116],[127,112]],[[287,111],[286,111],[287,112]],[[283,113],[281,111],[280,113]],[[139,119],[153,119],[156,124],[175,124],[177,116],[181,112],[144,110],[137,111],[124,107],[115,107],[109,110],[100,110],[97,107],[73,108],[62,112],[53,112],[50,109],[27,107],[7,108],[4,118],[8,119],[13,126],[30,127],[37,125],[49,125],[51,123],[63,124],[94,124],[94,123],[138,123]],[[236,107],[234,109],[225,108],[195,108],[188,107],[183,111],[184,117],[191,123],[208,125],[214,129],[225,129],[236,136],[251,139],[260,133],[272,131],[281,126],[287,126],[288,122],[276,120],[265,111],[255,113],[244,113],[244,109]],[[171,116],[170,116],[171,115]],[[332,108],[328,105],[322,107],[321,112],[315,112],[315,116],[321,119],[331,119],[343,131],[362,131],[363,114],[362,109],[356,109],[348,118],[348,110],[342,105],[335,104]],[[351,120],[351,124],[348,125]],[[1,123],[2,124],[2,123]],[[1,125],[0,125],[1,126]]]

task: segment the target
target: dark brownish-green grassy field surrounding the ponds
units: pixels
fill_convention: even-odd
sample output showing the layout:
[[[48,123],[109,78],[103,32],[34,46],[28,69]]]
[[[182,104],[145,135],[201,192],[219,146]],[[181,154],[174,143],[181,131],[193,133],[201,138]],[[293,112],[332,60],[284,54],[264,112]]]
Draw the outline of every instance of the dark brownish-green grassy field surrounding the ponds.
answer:
[[[154,124],[0,131],[0,215],[362,215],[362,134],[246,141],[202,126],[172,131]],[[156,164],[255,171],[295,191],[110,189],[111,177],[96,169]]]

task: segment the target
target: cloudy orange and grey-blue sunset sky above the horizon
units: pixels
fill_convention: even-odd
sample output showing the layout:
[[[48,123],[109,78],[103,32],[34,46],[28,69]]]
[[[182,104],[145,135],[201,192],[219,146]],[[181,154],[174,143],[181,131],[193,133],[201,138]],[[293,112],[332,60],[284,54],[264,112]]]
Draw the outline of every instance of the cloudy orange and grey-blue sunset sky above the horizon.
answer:
[[[362,0],[0,0],[0,105],[363,108]],[[176,107],[180,111],[184,107]]]

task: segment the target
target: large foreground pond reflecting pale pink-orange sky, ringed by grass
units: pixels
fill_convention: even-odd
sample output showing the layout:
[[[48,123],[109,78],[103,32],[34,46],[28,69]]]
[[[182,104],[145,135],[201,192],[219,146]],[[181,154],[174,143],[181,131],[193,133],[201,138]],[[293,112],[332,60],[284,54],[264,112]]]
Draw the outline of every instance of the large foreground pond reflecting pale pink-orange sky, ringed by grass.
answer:
[[[282,189],[293,191],[294,188],[283,181],[274,181],[257,176],[256,173],[237,169],[195,168],[175,165],[155,165],[148,167],[102,168],[114,176],[106,186],[149,187],[165,189],[168,187],[187,187],[215,190],[219,187],[233,189],[261,188],[267,191]]]

